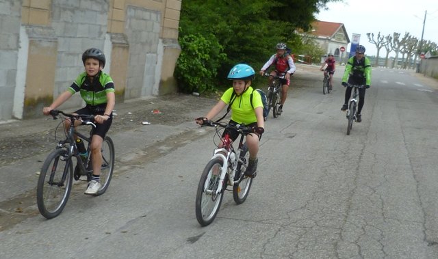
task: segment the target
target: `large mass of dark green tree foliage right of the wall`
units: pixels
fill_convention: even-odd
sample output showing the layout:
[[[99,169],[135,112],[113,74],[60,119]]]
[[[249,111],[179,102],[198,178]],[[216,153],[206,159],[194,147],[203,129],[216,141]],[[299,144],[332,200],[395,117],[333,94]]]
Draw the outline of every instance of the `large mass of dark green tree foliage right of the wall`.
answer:
[[[192,78],[186,80],[183,80],[185,73],[180,73],[179,87],[184,87],[184,91],[196,89],[200,86],[192,84],[204,82],[206,79],[200,78],[203,76],[211,77],[206,90],[211,85],[229,85],[226,77],[235,64],[246,63],[258,69],[274,53],[278,42],[287,42],[294,49],[289,42],[296,42],[296,27],[309,27],[319,8],[325,8],[326,3],[332,1],[340,0],[181,1],[179,40],[190,44],[181,46],[181,59],[184,60],[177,62],[177,67],[183,66],[179,71],[188,67],[201,68],[207,60],[204,54],[208,54],[209,62],[218,67],[213,68],[211,74],[192,73],[189,75]],[[205,44],[211,42],[211,46],[217,46],[220,51],[207,49],[203,41],[195,40],[201,36],[206,40]],[[198,50],[202,55],[193,55],[193,48],[198,44],[203,46]],[[222,54],[226,56],[223,60],[220,59]],[[195,77],[199,78],[195,80]]]

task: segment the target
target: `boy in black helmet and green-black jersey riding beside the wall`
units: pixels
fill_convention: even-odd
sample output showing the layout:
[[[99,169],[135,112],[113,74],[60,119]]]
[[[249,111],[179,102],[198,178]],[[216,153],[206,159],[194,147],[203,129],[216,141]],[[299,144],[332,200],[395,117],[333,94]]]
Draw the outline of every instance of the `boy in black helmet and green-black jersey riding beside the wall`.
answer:
[[[112,124],[112,110],[116,103],[114,83],[109,74],[102,72],[105,67],[105,55],[99,49],[88,49],[82,54],[82,62],[85,72],[79,74],[77,79],[68,89],[60,94],[49,107],[44,107],[42,113],[49,115],[68,100],[73,94],[80,92],[86,102],[86,107],[79,109],[74,114],[95,115],[96,128],[93,131],[91,142],[91,155],[93,174],[85,194],[94,195],[101,188],[99,182],[102,166],[101,148],[103,139]],[[81,122],[75,122],[75,126]],[[70,126],[70,120],[66,120],[66,127]]]

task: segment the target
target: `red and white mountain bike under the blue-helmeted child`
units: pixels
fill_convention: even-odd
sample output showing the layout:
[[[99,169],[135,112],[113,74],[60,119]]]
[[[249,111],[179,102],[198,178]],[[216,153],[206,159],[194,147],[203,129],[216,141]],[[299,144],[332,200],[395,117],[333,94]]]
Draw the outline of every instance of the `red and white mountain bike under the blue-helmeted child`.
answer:
[[[253,128],[211,121],[204,122],[203,126],[214,126],[215,136],[219,137],[221,128],[234,128],[240,133],[237,150],[231,144],[230,135],[224,135],[222,148],[214,150],[199,180],[196,192],[196,219],[201,226],[207,226],[214,221],[219,212],[224,191],[231,191],[227,189],[228,186],[233,187],[233,199],[236,204],[242,204],[248,197],[253,178],[244,174],[249,159],[248,146],[244,143],[244,137],[253,133]]]

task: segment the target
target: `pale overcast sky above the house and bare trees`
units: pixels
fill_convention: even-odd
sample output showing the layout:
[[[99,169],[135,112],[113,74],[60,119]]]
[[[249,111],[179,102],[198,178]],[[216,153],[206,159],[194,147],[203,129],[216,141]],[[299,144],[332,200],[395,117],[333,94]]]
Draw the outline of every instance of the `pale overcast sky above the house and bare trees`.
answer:
[[[344,23],[350,41],[352,33],[361,34],[360,44],[365,46],[367,55],[377,53],[376,46],[368,42],[368,32],[374,33],[374,38],[379,31],[384,36],[398,32],[400,37],[409,32],[420,40],[426,10],[423,39],[438,44],[438,0],[344,0],[344,3],[329,3],[327,7],[329,10],[322,10],[316,18]],[[350,51],[350,44],[347,50]],[[380,56],[385,55],[383,47]]]

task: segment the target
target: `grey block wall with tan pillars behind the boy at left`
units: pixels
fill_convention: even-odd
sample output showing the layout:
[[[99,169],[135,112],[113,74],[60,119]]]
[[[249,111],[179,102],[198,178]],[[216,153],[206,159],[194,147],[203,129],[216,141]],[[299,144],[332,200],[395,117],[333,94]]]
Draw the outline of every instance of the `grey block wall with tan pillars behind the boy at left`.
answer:
[[[34,118],[105,52],[116,101],[175,92],[181,0],[0,0],[0,122]],[[60,109],[83,105],[79,94]]]

